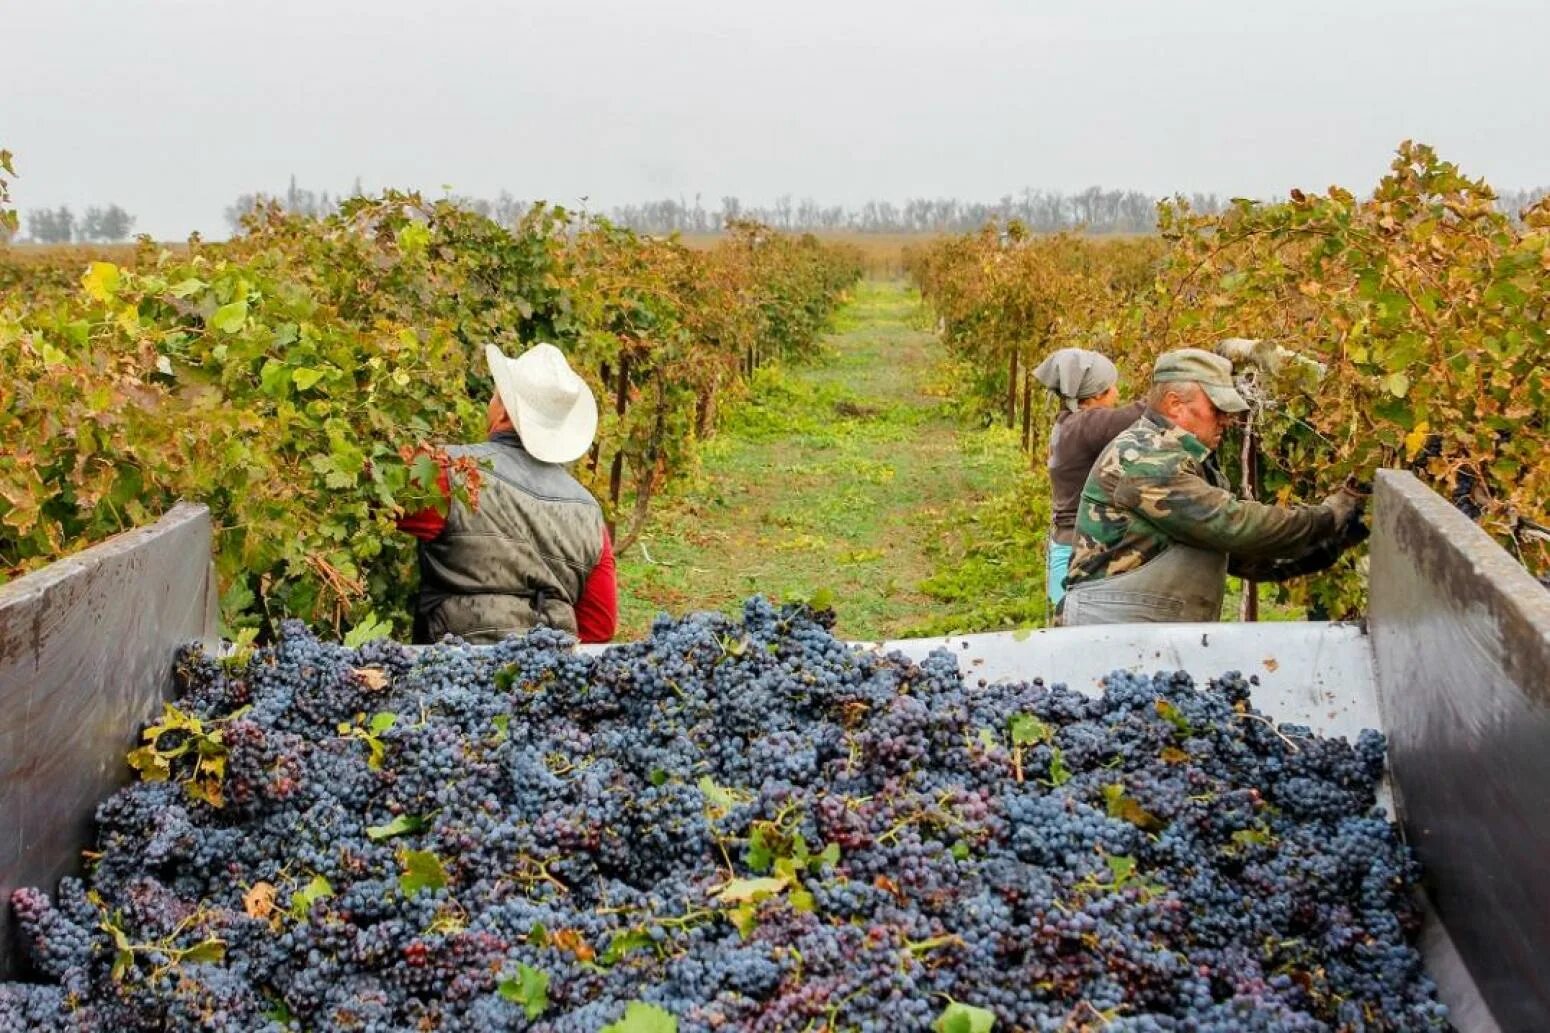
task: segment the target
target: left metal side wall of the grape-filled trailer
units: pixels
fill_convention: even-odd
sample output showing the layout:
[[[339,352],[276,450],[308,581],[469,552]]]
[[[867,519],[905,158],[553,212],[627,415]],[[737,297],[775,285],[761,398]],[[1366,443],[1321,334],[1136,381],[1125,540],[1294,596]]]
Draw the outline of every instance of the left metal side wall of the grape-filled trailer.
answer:
[[[209,512],[183,504],[0,586],[0,979],[11,890],[76,869],[177,647],[214,637],[209,541]]]

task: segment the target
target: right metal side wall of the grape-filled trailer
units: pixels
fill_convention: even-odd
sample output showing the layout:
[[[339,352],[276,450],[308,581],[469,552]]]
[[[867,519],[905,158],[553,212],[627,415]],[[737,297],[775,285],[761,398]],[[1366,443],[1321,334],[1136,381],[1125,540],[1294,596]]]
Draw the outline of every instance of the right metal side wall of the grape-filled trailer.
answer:
[[[1550,593],[1407,473],[1380,473],[1375,520],[1370,631],[1400,817],[1496,1022],[1541,1033]]]

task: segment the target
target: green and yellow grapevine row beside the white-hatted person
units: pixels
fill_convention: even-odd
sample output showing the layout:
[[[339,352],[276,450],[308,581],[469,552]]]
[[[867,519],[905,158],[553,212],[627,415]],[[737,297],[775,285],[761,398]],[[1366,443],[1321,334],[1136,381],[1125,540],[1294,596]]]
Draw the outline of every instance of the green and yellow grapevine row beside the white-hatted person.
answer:
[[[327,219],[260,208],[229,244],[84,273],[0,265],[0,580],[198,501],[232,637],[285,617],[406,633],[395,520],[439,501],[440,445],[484,437],[487,343],[553,341],[615,400],[577,472],[623,546],[746,355],[811,349],[859,275],[843,248],[766,230],[693,251],[398,192]],[[460,498],[477,484],[454,468]]]

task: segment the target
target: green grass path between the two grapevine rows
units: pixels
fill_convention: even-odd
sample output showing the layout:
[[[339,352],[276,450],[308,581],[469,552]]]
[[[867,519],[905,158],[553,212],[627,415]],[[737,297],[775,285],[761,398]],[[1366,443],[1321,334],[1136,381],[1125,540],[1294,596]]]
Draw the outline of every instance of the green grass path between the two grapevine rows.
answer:
[[[825,588],[854,639],[1035,622],[1045,503],[953,383],[913,290],[863,282],[825,357],[761,371],[620,557],[620,637],[662,610]]]

